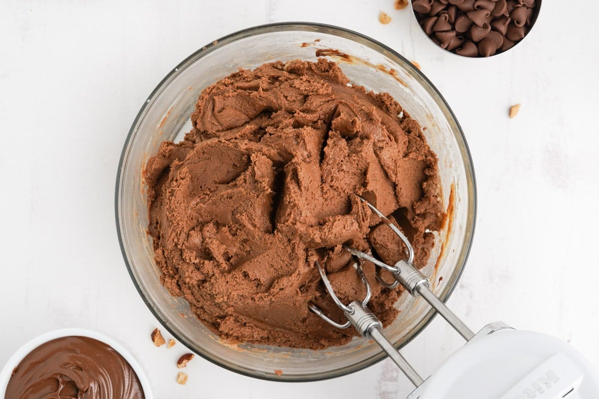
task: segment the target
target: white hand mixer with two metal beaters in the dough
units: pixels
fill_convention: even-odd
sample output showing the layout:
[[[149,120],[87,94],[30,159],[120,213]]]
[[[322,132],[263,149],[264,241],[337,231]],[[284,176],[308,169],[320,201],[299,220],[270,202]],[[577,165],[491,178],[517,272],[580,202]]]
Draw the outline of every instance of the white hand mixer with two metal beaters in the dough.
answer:
[[[428,279],[413,266],[414,250],[407,237],[373,205],[362,199],[403,241],[407,260],[394,266],[354,248],[346,247],[358,261],[353,264],[366,295],[361,301],[343,304],[335,295],[326,273],[316,261],[326,291],[347,318],[339,323],[313,303],[310,310],[337,328],[350,325],[373,339],[416,386],[407,399],[599,399],[599,377],[591,364],[567,343],[532,331],[518,331],[503,322],[493,322],[474,334],[431,290]],[[382,333],[382,323],[367,307],[370,284],[361,264],[368,260],[389,270],[395,281],[377,280],[384,287],[403,285],[412,296],[425,299],[467,341],[426,380],[410,366]]]

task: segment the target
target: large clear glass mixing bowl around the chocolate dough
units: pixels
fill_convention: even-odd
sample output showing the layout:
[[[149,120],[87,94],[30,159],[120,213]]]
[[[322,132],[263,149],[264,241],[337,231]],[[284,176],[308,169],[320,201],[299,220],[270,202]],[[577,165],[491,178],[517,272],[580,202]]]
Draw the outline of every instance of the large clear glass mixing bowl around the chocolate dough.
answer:
[[[161,285],[146,233],[142,171],[162,141],[179,141],[191,129],[190,115],[202,89],[238,68],[255,68],[277,60],[316,60],[319,49],[340,63],[352,83],[388,92],[397,99],[420,122],[439,158],[443,202],[449,217],[437,234],[423,272],[431,278],[441,300],[449,297],[458,282],[474,232],[474,172],[458,121],[431,82],[391,48],[334,26],[278,23],[233,33],[196,51],[158,84],[131,126],[117,173],[117,232],[135,287],[164,328],[205,359],[261,379],[326,379],[370,366],[385,355],[374,342],[361,337],[320,351],[221,340],[190,312],[186,301],[171,296]],[[401,310],[400,316],[384,333],[400,348],[426,327],[434,311],[422,299],[407,294],[395,306]]]

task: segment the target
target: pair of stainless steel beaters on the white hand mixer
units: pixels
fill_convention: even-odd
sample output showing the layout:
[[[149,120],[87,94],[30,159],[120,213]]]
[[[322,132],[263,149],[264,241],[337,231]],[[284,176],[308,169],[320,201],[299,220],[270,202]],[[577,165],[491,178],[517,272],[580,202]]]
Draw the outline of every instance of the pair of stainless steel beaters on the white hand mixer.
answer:
[[[384,287],[387,288],[395,288],[397,285],[401,284],[406,291],[408,291],[412,296],[419,297],[421,296],[425,299],[437,312],[443,316],[444,319],[455,328],[458,333],[464,337],[465,340],[470,340],[474,337],[474,333],[467,325],[464,324],[445,304],[443,301],[438,299],[434,293],[431,291],[431,284],[429,280],[422,274],[416,267],[413,266],[414,261],[414,249],[410,244],[409,240],[405,236],[401,230],[395,226],[388,218],[383,215],[379,209],[375,208],[371,203],[359,197],[362,202],[365,202],[379,218],[391,229],[398,237],[402,240],[402,242],[406,245],[407,248],[407,260],[400,260],[395,263],[394,266],[384,263],[383,261],[373,257],[373,255],[367,254],[362,251],[358,251],[354,248],[344,247],[347,251],[349,251],[352,255],[358,258],[358,261],[353,264],[353,267],[356,269],[356,272],[360,276],[362,280],[362,284],[366,287],[366,296],[361,301],[353,301],[350,304],[343,304],[340,299],[338,299],[337,295],[332,288],[329,279],[326,277],[322,266],[320,263],[316,261],[316,267],[320,273],[320,277],[322,278],[323,283],[325,284],[326,291],[328,291],[329,295],[334,300],[335,304],[343,310],[344,315],[347,318],[347,322],[344,324],[335,322],[328,316],[326,316],[319,307],[314,305],[313,303],[308,304],[310,310],[317,315],[320,316],[323,320],[328,322],[331,325],[334,325],[337,328],[347,328],[350,325],[358,330],[358,332],[365,338],[373,339],[383,351],[386,352],[387,355],[400,367],[401,371],[410,379],[410,381],[419,386],[422,384],[422,377],[414,370],[412,366],[406,361],[406,359],[398,352],[394,346],[386,339],[386,337],[382,333],[382,323],[367,307],[368,301],[371,297],[371,288],[370,284],[368,284],[368,280],[364,275],[364,271],[362,270],[361,264],[364,260],[371,261],[372,263],[379,266],[381,269],[388,270],[391,272],[391,275],[394,277],[395,281],[393,283],[388,283],[384,281],[380,275],[377,273],[376,278],[377,281],[380,282]]]

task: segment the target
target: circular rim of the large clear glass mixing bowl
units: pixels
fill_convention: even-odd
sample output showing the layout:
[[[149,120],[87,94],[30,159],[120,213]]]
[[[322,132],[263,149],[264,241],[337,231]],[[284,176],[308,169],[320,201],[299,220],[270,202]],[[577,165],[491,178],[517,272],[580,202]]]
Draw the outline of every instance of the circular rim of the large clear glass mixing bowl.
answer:
[[[376,39],[370,38],[367,35],[364,35],[362,33],[356,32],[356,31],[352,31],[350,29],[341,28],[340,26],[327,25],[327,24],[315,23],[315,22],[268,23],[265,25],[257,25],[257,26],[253,26],[251,28],[242,29],[241,31],[237,31],[237,32],[231,33],[229,35],[223,36],[222,38],[216,39],[215,41],[210,42],[210,43],[204,45],[203,47],[199,48],[199,50],[196,50],[194,53],[192,53],[186,59],[181,61],[179,63],[179,65],[177,65],[175,68],[173,68],[160,81],[160,83],[158,83],[156,88],[154,90],[152,90],[152,93],[150,93],[150,95],[147,98],[152,99],[152,98],[155,98],[156,96],[158,96],[159,93],[161,93],[162,90],[164,90],[165,87],[168,86],[170,81],[174,78],[174,75],[178,74],[178,72],[181,69],[186,68],[191,63],[196,62],[197,60],[201,59],[202,57],[204,57],[205,55],[210,53],[212,50],[214,50],[214,48],[222,47],[223,45],[226,45],[230,42],[238,41],[240,39],[247,38],[249,36],[261,35],[263,33],[277,32],[277,31],[322,32],[322,33],[343,36],[344,38],[352,39],[353,41],[360,42],[361,44],[367,45],[368,47],[373,48],[373,50],[376,50],[379,52],[385,51],[386,53],[389,53],[389,56],[396,57],[398,60],[401,60],[402,62],[406,63],[406,65],[408,65],[408,68],[412,69],[412,73],[418,75],[420,80],[422,80],[420,83],[424,84],[427,92],[433,98],[436,98],[438,105],[441,106],[441,108],[446,108],[447,116],[452,120],[452,123],[455,124],[456,129],[457,129],[458,135],[456,136],[456,140],[458,140],[458,145],[459,145],[459,147],[461,147],[461,150],[462,150],[462,159],[464,160],[465,173],[468,177],[468,199],[471,202],[471,203],[469,203],[470,208],[471,208],[471,217],[470,217],[471,228],[468,229],[468,232],[466,233],[466,235],[464,237],[465,239],[464,239],[464,242],[462,243],[462,249],[461,249],[462,252],[464,253],[464,257],[463,257],[462,263],[459,264],[457,267],[457,276],[455,279],[455,283],[453,284],[452,287],[450,287],[450,290],[447,291],[446,297],[440,298],[444,302],[447,301],[449,299],[449,297],[451,296],[451,294],[453,293],[453,290],[455,290],[455,287],[458,284],[458,281],[461,278],[462,273],[464,272],[465,264],[468,260],[468,255],[470,254],[470,249],[471,249],[471,245],[472,245],[472,241],[473,241],[473,237],[474,237],[474,229],[476,227],[476,213],[477,213],[476,212],[477,211],[477,196],[476,196],[477,190],[476,190],[476,178],[474,175],[474,166],[473,166],[472,157],[470,154],[470,149],[468,148],[468,144],[466,142],[462,127],[460,126],[460,124],[459,124],[457,118],[455,117],[455,114],[453,113],[452,109],[450,108],[449,104],[443,98],[443,96],[437,90],[437,88],[434,86],[434,84],[432,84],[431,81],[428,80],[428,78],[425,75],[423,75],[422,72],[418,68],[413,66],[412,62],[407,60],[400,53],[393,50],[391,47],[388,47],[387,45],[383,44],[382,42],[377,41]],[[428,86],[428,87],[426,87],[426,86]],[[184,337],[180,337],[179,334],[177,334],[176,331],[174,331],[169,326],[168,322],[165,322],[164,320],[162,320],[161,316],[159,316],[158,313],[153,309],[152,303],[150,303],[150,301],[147,299],[145,293],[143,292],[143,290],[141,289],[137,280],[135,279],[135,275],[132,270],[132,265],[129,264],[127,252],[125,249],[125,245],[123,243],[122,228],[120,226],[120,221],[119,221],[120,183],[121,183],[122,172],[123,172],[122,168],[123,168],[123,164],[125,163],[125,159],[126,159],[126,155],[127,155],[127,149],[129,147],[129,143],[131,141],[132,136],[134,135],[135,131],[137,130],[139,121],[141,120],[141,118],[143,118],[143,116],[146,114],[147,108],[151,105],[152,105],[152,103],[150,103],[150,100],[145,101],[143,103],[143,105],[141,106],[140,111],[135,116],[135,119],[134,119],[133,123],[131,124],[131,128],[129,129],[129,133],[125,139],[125,144],[123,144],[123,150],[122,150],[122,153],[121,153],[121,156],[119,159],[119,166],[117,169],[117,176],[116,176],[116,189],[115,189],[115,193],[114,193],[114,211],[115,211],[115,218],[116,218],[117,236],[119,237],[120,249],[121,249],[121,252],[123,255],[123,260],[125,261],[125,265],[127,267],[129,276],[131,276],[131,280],[133,281],[133,284],[135,285],[135,289],[140,294],[144,303],[146,303],[146,306],[148,307],[148,309],[150,309],[150,312],[152,312],[152,314],[155,316],[155,318],[158,319],[158,321],[161,323],[162,327],[164,327],[171,335],[176,337],[176,339],[179,340],[181,343],[183,343],[183,345],[185,345],[188,349],[193,351],[193,348],[191,348],[190,345],[187,345],[186,339]],[[418,330],[416,330],[412,334],[412,336],[410,336],[408,339],[406,339],[401,345],[398,345],[396,349],[400,350],[401,348],[403,348],[403,346],[406,346],[413,339],[415,339],[415,337],[418,336],[418,334],[420,334],[420,332],[422,332],[422,330],[424,330],[428,326],[428,324],[432,321],[432,319],[436,315],[437,315],[437,312],[435,312],[434,309],[430,309],[429,312],[427,312],[424,317],[425,322],[423,322],[422,327],[420,327]],[[194,351],[194,353],[196,353],[196,352]],[[202,358],[204,358],[205,360],[210,361],[210,363],[213,363],[213,364],[216,364],[217,366],[223,367],[226,370],[234,371],[235,373],[242,374],[242,375],[248,376],[248,377],[253,377],[253,378],[258,378],[258,379],[263,379],[263,380],[273,380],[273,381],[278,381],[278,382],[308,382],[308,381],[331,379],[331,378],[347,375],[350,373],[355,373],[356,371],[373,366],[374,364],[378,363],[379,361],[383,360],[386,357],[385,353],[381,351],[379,355],[377,355],[375,357],[371,357],[370,362],[368,362],[368,363],[362,362],[361,364],[358,364],[357,367],[353,367],[353,368],[343,367],[343,368],[334,370],[329,373],[322,373],[319,376],[307,377],[306,379],[285,380],[285,379],[281,379],[280,377],[274,378],[269,375],[253,374],[248,371],[240,370],[238,368],[229,367],[226,364],[222,364],[219,361],[214,360],[213,358],[207,357],[203,354],[198,354],[198,355],[201,356]]]

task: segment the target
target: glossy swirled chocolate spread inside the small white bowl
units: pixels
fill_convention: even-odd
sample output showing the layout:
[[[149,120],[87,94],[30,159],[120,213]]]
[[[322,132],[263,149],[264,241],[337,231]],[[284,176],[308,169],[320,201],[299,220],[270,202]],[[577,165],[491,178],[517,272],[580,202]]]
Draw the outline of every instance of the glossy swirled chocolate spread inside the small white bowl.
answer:
[[[140,380],[113,348],[89,337],[61,337],[14,368],[5,399],[143,399]]]

